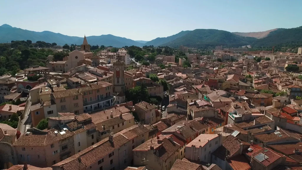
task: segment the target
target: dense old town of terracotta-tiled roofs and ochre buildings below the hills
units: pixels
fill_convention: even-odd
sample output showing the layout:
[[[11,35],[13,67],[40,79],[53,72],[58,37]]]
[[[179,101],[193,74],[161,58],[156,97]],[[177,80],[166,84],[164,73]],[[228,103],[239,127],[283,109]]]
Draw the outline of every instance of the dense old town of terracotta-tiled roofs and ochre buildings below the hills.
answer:
[[[302,47],[90,48],[0,77],[0,169],[301,169]]]

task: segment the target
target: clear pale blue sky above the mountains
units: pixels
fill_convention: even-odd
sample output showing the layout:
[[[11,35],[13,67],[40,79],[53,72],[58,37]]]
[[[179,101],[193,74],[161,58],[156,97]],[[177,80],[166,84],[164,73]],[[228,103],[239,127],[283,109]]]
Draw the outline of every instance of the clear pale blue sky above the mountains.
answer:
[[[180,31],[258,32],[302,26],[302,0],[1,0],[0,25],[150,41]]]

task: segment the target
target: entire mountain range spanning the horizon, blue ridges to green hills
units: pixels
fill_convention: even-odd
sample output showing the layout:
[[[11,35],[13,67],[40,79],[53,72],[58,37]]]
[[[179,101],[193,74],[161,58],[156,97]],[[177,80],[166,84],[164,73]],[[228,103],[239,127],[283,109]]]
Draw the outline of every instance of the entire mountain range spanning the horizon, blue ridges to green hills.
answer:
[[[181,31],[178,34],[164,38],[156,38],[151,41],[134,41],[128,38],[117,37],[111,34],[100,36],[86,37],[90,45],[104,45],[113,47],[153,45],[179,47],[185,45],[188,47],[207,47],[207,46],[232,46],[239,47],[251,45],[252,47],[260,46],[277,46],[290,43],[302,43],[302,27],[297,28],[276,28],[263,32],[228,32],[216,29],[195,29],[193,31]],[[45,41],[48,43],[64,44],[82,44],[83,38],[68,36],[51,31],[29,31],[21,28],[12,27],[4,24],[0,26],[0,43],[11,42],[12,40],[31,40]]]

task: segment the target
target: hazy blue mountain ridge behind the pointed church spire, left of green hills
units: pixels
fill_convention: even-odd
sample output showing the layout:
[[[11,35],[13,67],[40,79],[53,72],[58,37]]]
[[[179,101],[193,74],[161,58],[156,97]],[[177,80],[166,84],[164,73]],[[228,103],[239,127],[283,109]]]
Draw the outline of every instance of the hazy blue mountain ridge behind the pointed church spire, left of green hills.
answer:
[[[128,38],[117,37],[111,34],[100,36],[88,36],[86,38],[90,45],[98,44],[113,47],[124,47],[131,45],[139,47],[143,46],[143,43]],[[55,42],[58,45],[83,43],[83,37],[68,36],[60,33],[54,33],[51,31],[29,31],[21,28],[11,27],[7,24],[0,26],[0,43],[11,42],[12,40],[31,40],[32,42],[45,41],[48,43]]]

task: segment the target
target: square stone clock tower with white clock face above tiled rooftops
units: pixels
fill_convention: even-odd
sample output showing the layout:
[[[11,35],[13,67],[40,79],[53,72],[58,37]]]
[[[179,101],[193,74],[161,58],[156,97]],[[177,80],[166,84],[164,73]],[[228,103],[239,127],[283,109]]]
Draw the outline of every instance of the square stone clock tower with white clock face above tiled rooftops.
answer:
[[[124,61],[117,60],[113,63],[113,92],[124,93]]]

